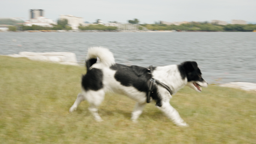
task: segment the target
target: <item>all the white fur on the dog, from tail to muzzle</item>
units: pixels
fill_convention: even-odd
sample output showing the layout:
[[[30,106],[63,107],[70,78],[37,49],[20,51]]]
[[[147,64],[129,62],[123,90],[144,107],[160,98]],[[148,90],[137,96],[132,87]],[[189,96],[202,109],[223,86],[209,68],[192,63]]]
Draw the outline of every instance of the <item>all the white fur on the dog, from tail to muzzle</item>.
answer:
[[[115,64],[115,59],[108,49],[101,47],[94,47],[88,50],[88,55],[86,60],[91,58],[99,58],[100,62],[93,64],[89,69],[98,68],[103,71],[103,89],[98,91],[88,90],[85,91],[82,87],[82,92],[77,95],[77,99],[70,108],[70,112],[76,110],[77,106],[83,100],[89,102],[89,111],[93,114],[94,119],[97,121],[102,121],[101,117],[98,114],[98,106],[104,100],[105,92],[115,92],[118,94],[123,94],[129,96],[131,99],[134,99],[137,103],[132,112],[131,120],[136,121],[140,114],[143,111],[144,106],[146,105],[146,92],[138,91],[133,86],[123,86],[120,82],[115,79],[116,70],[110,69],[110,66]],[[159,80],[162,83],[165,83],[167,86],[171,88],[173,94],[175,94],[179,89],[184,86],[189,86],[190,88],[198,91],[193,85],[193,82],[188,82],[188,80],[182,79],[182,76],[179,73],[177,65],[168,65],[164,67],[156,67],[153,71],[153,78]],[[207,83],[204,82],[196,82],[202,87],[207,87]],[[188,126],[186,122],[180,117],[177,110],[175,110],[170,105],[171,95],[170,93],[163,87],[157,86],[158,92],[161,94],[162,106],[159,108],[170,120],[173,121],[177,126]],[[152,101],[152,98],[151,98]]]

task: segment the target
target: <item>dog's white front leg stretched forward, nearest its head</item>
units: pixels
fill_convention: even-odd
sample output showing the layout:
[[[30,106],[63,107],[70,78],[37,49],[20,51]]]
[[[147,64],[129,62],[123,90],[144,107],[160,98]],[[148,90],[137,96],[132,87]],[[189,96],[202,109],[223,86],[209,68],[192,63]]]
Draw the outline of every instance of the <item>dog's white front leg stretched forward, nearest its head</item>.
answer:
[[[158,106],[157,106],[158,107]],[[189,126],[184,120],[180,117],[180,114],[178,113],[175,108],[173,108],[169,102],[163,102],[162,106],[158,107],[164,114],[171,120],[173,123],[177,126]]]

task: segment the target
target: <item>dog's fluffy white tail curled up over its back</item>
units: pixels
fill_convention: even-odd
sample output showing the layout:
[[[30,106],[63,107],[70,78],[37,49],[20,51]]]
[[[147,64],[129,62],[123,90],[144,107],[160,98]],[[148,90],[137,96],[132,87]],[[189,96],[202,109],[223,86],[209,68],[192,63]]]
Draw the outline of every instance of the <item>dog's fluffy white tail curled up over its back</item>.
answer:
[[[92,47],[88,49],[88,54],[85,61],[87,70],[89,70],[89,68],[97,62],[97,57],[100,59],[100,62],[107,67],[115,64],[114,55],[109,51],[109,49],[102,47]]]

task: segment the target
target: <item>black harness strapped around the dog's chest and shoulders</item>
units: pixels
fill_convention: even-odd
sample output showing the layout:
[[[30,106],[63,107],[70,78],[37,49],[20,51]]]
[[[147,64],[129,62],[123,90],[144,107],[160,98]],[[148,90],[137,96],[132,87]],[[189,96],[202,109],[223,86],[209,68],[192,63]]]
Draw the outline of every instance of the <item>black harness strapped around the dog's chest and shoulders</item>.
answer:
[[[150,94],[153,93],[153,83],[156,83],[162,87],[164,87],[171,95],[173,94],[173,92],[171,91],[171,89],[169,88],[169,86],[165,85],[164,83],[160,82],[159,80],[153,79],[152,77],[152,73],[153,73],[153,66],[150,65],[149,66],[149,71],[151,74],[151,79],[150,79],[150,83],[149,83],[149,91],[147,93],[147,103],[150,103]]]

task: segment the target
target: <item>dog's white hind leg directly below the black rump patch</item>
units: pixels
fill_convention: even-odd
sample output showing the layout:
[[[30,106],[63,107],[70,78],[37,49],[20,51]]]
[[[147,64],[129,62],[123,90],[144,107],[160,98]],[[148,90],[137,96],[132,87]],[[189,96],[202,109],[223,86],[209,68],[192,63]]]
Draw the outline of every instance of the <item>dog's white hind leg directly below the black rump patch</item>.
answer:
[[[103,121],[98,114],[98,106],[101,104],[101,102],[104,100],[105,92],[103,89],[98,91],[88,91],[86,94],[86,100],[89,102],[90,106],[88,110],[92,113],[94,116],[94,119],[101,122]]]

